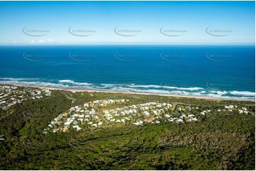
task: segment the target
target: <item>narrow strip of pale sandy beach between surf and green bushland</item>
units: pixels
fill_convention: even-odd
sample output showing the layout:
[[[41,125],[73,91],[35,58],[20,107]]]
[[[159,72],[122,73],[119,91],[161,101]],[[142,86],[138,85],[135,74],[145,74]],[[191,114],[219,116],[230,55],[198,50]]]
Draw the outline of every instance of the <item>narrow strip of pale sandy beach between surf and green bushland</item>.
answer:
[[[0,83],[1,84],[1,83]],[[160,95],[166,97],[174,97],[174,98],[196,98],[202,100],[235,100],[235,101],[250,101],[255,102],[255,99],[229,99],[229,98],[213,98],[213,97],[206,97],[206,96],[193,96],[193,95],[171,95],[171,94],[160,94],[160,93],[138,93],[138,92],[126,92],[126,91],[114,91],[114,90],[98,90],[98,89],[89,89],[89,88],[54,88],[54,87],[45,87],[45,86],[26,86],[21,84],[1,84],[1,85],[9,85],[9,86],[19,86],[19,87],[28,87],[28,88],[40,88],[40,89],[48,89],[48,90],[65,90],[72,93],[77,92],[95,92],[95,93],[122,93],[128,95]]]

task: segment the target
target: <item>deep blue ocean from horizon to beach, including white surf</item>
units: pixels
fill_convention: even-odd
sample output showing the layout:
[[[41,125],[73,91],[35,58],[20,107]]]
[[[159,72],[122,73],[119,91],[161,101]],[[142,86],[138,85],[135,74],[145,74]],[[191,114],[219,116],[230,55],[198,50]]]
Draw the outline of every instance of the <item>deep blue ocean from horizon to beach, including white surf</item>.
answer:
[[[255,99],[250,45],[1,46],[0,83]]]

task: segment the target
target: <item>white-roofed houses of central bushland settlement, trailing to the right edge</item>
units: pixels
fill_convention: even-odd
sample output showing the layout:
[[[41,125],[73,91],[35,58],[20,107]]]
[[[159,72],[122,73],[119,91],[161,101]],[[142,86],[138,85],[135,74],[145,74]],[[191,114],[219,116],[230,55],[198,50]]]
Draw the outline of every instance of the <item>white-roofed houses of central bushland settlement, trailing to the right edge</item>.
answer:
[[[121,104],[128,101],[125,99],[95,100],[93,102],[86,102],[84,105],[71,107],[69,110],[55,117],[48,125],[48,128],[44,130],[43,134],[46,134],[48,131],[52,131],[53,133],[57,131],[66,132],[69,129],[79,131],[81,129],[96,129],[110,125],[121,126],[135,124],[140,126],[145,123],[197,122],[198,119],[196,117],[204,117],[206,114],[211,114],[211,110],[200,111],[199,107],[181,104],[175,106],[170,103],[159,102],[146,102],[106,110],[103,108],[108,107],[108,105]],[[246,107],[238,107],[237,105],[227,105],[217,111],[236,111],[248,114]]]

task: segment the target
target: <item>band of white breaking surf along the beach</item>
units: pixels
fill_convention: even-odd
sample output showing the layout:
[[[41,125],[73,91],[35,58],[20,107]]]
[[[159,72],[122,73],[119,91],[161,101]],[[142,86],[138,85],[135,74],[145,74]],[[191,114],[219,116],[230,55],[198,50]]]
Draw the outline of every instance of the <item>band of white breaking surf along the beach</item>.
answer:
[[[225,98],[238,100],[255,100],[255,93],[238,90],[209,90],[199,87],[176,87],[162,85],[135,85],[113,83],[79,83],[72,80],[40,80],[39,78],[0,78],[1,84],[13,84],[21,86],[42,86],[49,88],[79,88],[93,90],[111,90],[133,93],[152,93],[163,95],[185,95],[209,98]]]

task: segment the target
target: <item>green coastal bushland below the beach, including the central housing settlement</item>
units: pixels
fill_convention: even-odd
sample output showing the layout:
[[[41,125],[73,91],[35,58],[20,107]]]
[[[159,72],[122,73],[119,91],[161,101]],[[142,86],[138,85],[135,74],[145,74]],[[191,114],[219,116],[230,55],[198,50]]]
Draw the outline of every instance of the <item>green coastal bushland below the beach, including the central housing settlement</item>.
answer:
[[[255,102],[50,90],[0,109],[0,169],[255,170]]]

